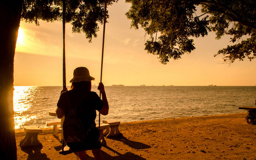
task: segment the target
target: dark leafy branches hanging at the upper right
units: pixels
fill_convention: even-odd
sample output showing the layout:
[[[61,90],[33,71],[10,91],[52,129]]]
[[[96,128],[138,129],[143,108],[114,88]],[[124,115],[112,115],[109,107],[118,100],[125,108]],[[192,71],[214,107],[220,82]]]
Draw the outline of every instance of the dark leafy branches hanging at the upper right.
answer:
[[[148,53],[158,55],[161,63],[180,59],[195,50],[193,38],[215,31],[216,38],[232,36],[234,45],[219,50],[224,61],[256,57],[256,2],[253,0],[126,0],[131,26],[142,27],[150,36]],[[197,11],[201,8],[201,12]],[[247,38],[247,39],[244,39]]]

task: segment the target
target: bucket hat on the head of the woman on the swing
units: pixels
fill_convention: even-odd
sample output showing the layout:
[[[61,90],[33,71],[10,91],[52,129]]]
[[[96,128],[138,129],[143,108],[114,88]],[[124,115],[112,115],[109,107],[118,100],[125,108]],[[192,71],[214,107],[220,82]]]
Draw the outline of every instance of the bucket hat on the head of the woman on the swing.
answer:
[[[94,79],[94,77],[90,76],[89,70],[86,67],[77,67],[74,70],[73,78],[69,82],[92,81]]]

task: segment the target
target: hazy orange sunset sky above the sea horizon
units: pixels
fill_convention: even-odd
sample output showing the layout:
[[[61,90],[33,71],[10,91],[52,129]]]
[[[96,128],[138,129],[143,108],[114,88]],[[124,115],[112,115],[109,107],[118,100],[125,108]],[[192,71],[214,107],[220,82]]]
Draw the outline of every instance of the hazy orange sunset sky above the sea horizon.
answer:
[[[106,24],[103,83],[105,85],[256,85],[255,60],[223,63],[222,56],[213,57],[229,44],[229,38],[215,40],[214,33],[197,38],[196,50],[180,60],[162,65],[157,55],[144,50],[145,32],[130,28],[125,16],[130,4],[124,0],[108,7]],[[40,21],[40,26],[21,21],[14,58],[14,85],[62,85],[62,24]],[[22,36],[23,35],[23,36]],[[102,26],[98,37],[88,43],[84,34],[72,33],[66,25],[67,85],[76,67],[85,66],[100,80]]]

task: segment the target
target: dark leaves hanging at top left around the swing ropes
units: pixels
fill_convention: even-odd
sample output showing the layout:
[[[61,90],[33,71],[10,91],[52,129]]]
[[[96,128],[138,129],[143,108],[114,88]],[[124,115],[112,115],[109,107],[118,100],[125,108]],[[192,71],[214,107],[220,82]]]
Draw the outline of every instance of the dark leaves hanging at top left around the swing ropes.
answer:
[[[108,0],[107,5],[112,5],[118,0]],[[65,0],[66,22],[73,25],[74,33],[85,33],[91,42],[92,37],[97,37],[98,23],[104,21],[104,0]],[[62,0],[24,0],[22,6],[22,20],[34,22],[39,25],[39,20],[48,22],[62,21]],[[108,15],[106,15],[108,18]]]

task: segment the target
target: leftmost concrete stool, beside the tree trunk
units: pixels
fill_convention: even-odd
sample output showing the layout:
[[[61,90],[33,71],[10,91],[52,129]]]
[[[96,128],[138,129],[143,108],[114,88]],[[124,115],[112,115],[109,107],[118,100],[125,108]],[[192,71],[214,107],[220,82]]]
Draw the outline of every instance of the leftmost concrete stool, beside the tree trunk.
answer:
[[[20,141],[20,148],[42,146],[37,139],[38,133],[42,133],[39,126],[24,126],[25,138]]]

